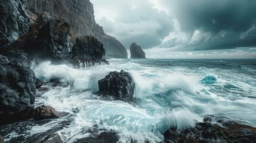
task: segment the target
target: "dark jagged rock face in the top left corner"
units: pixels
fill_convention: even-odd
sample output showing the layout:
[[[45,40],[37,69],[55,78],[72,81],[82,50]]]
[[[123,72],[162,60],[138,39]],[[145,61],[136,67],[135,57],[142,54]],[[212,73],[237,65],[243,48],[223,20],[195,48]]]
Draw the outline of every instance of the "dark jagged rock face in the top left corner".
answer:
[[[0,49],[7,48],[29,30],[29,15],[24,0],[0,2]]]

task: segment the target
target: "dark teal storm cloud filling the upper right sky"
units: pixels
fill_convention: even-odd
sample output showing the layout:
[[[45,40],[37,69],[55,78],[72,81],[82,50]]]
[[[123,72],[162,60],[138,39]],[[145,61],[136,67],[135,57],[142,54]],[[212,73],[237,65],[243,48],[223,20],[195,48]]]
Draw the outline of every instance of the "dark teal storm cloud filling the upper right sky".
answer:
[[[228,49],[256,45],[256,1],[162,0],[168,14],[177,18],[185,33],[199,30],[181,50]],[[169,43],[168,43],[169,42]],[[168,41],[165,45],[171,45]],[[173,43],[172,43],[173,44]],[[178,48],[175,48],[179,50]]]

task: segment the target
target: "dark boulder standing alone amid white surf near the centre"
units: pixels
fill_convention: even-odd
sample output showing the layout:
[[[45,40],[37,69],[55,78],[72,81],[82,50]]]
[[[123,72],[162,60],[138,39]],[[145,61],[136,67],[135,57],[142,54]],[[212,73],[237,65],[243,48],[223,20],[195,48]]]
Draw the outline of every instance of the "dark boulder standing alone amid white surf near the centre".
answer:
[[[112,71],[104,79],[98,80],[98,93],[113,95],[116,100],[133,101],[135,82],[124,70]]]

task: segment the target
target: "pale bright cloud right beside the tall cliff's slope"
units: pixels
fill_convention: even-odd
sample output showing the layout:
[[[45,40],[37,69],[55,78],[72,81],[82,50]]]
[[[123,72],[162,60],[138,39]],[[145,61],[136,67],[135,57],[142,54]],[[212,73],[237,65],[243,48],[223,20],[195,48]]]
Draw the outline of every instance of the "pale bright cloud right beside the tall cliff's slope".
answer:
[[[127,49],[133,42],[142,48],[159,46],[161,39],[173,30],[173,22],[166,12],[153,8],[148,0],[91,2],[95,5],[97,23]]]

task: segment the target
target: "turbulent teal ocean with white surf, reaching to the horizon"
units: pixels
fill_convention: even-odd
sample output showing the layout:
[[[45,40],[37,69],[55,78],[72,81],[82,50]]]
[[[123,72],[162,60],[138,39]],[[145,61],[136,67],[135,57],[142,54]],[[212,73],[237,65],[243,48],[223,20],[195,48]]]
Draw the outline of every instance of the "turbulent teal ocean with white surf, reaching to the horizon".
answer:
[[[37,92],[35,106],[50,105],[59,119],[33,119],[0,127],[5,142],[36,142],[58,133],[64,142],[90,136],[88,130],[117,132],[119,142],[160,142],[169,128],[186,129],[203,117],[256,127],[256,60],[110,59],[110,65],[73,69],[36,66],[36,77],[63,77],[68,87]],[[100,97],[98,80],[110,71],[135,80],[134,104]]]

